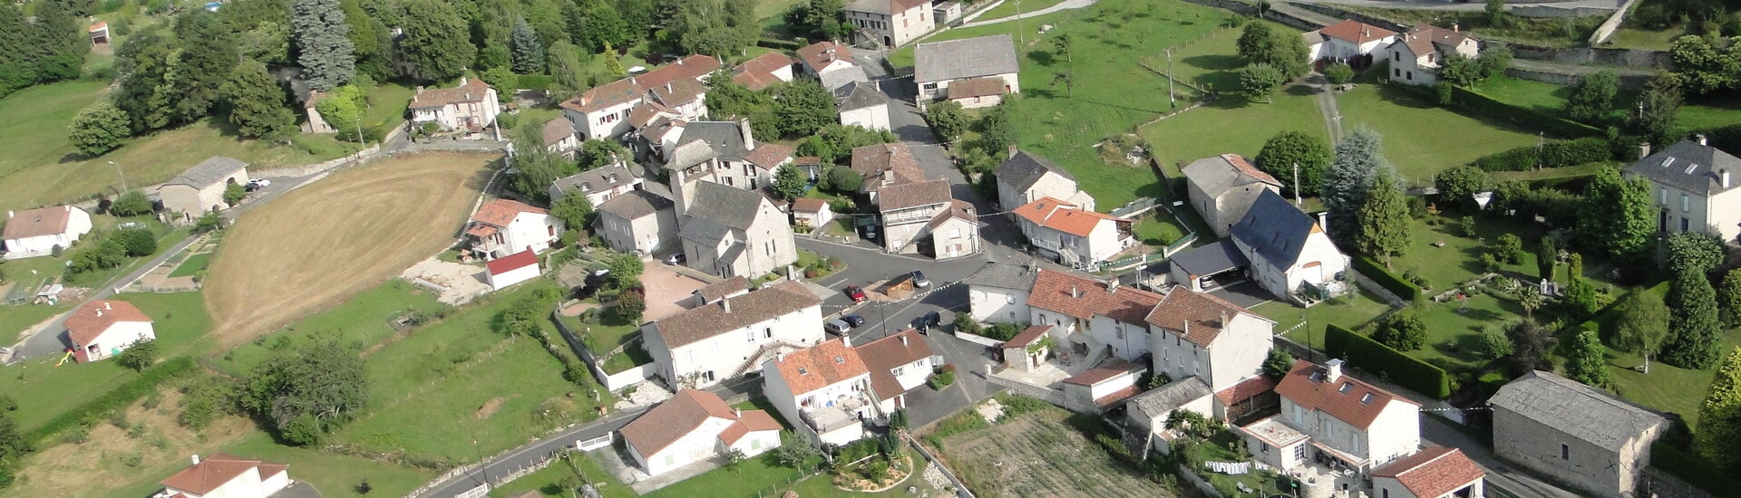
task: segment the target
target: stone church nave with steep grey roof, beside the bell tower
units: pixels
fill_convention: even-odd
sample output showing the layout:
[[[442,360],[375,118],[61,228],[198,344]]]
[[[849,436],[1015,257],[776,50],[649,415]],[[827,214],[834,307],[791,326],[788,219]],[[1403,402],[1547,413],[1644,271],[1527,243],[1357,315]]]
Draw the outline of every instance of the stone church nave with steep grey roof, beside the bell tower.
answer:
[[[792,225],[761,192],[696,181],[677,202],[677,235],[689,268],[761,277],[797,261]],[[818,324],[820,327],[820,324]]]

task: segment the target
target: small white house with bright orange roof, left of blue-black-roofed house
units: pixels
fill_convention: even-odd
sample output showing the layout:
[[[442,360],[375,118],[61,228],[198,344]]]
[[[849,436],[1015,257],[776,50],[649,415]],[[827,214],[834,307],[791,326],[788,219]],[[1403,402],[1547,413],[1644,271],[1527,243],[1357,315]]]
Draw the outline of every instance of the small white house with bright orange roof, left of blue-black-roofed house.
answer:
[[[1090,268],[1137,246],[1135,221],[1086,211],[1045,197],[1012,211],[1027,244],[1046,258],[1072,268]]]

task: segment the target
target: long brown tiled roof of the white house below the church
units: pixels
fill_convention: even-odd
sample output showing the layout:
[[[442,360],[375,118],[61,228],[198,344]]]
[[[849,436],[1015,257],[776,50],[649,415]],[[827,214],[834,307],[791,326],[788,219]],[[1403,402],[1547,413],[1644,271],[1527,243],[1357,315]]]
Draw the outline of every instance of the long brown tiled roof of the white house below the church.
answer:
[[[724,303],[731,303],[729,312],[719,303],[684,310],[653,322],[651,331],[665,340],[665,347],[679,348],[749,324],[815,306],[822,299],[804,289],[804,284],[787,280],[750,291],[743,296],[726,298]]]

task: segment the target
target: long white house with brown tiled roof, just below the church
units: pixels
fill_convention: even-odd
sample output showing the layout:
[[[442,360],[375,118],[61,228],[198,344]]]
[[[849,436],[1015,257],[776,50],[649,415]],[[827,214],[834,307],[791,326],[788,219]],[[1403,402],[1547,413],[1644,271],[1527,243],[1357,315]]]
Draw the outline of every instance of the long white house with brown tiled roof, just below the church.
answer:
[[[641,331],[665,383],[705,388],[761,371],[775,355],[820,343],[822,299],[804,284],[787,280],[679,312]]]

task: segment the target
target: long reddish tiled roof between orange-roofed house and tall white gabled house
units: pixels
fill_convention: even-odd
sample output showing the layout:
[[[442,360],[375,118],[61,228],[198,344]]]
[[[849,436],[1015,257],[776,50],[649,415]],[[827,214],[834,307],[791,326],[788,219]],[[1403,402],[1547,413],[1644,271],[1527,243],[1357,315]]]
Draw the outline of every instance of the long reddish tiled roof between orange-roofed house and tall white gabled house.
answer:
[[[1071,291],[1076,291],[1076,296]],[[1119,286],[1107,291],[1100,280],[1057,270],[1039,270],[1039,275],[1034,277],[1034,289],[1027,294],[1029,306],[1076,319],[1104,315],[1132,326],[1147,326],[1144,317],[1160,301],[1160,294],[1144,289]]]

